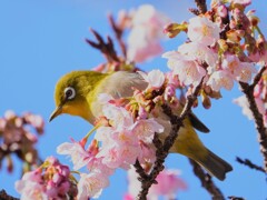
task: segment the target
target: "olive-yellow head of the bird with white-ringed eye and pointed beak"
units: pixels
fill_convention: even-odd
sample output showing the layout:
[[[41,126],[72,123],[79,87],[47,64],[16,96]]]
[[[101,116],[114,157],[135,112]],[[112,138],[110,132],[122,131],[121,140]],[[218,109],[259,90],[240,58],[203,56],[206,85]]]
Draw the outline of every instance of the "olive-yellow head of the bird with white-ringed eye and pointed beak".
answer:
[[[87,97],[102,76],[95,71],[72,71],[60,78],[55,89],[56,109],[49,121],[62,113],[79,116],[89,121],[90,107]]]

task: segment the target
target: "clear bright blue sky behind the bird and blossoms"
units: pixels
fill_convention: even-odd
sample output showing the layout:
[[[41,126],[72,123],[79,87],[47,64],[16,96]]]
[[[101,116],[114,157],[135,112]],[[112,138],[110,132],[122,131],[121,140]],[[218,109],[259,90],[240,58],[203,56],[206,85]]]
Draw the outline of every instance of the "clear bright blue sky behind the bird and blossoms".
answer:
[[[87,0],[46,0],[46,1],[1,1],[0,2],[0,116],[12,109],[18,114],[31,111],[41,114],[46,120],[46,133],[38,143],[41,158],[57,156],[56,148],[69,138],[80,139],[91,128],[86,121],[62,116],[48,123],[48,118],[55,108],[53,88],[57,80],[71,70],[90,69],[105,61],[101,54],[90,48],[85,38],[92,39],[89,27],[101,34],[110,34],[107,13],[116,13],[120,9],[136,8],[142,3],[151,3],[158,10],[168,14],[175,21],[188,19],[187,12],[192,0],[166,1],[87,1]],[[261,18],[265,33],[267,3],[255,1],[250,8],[257,10]],[[265,28],[265,29],[264,29]],[[181,41],[167,40],[165,49],[174,50]],[[166,60],[157,58],[151,62],[140,64],[145,70],[160,68],[167,70]],[[209,127],[209,134],[199,133],[204,143],[230,162],[234,171],[227,174],[225,181],[217,181],[226,197],[241,196],[246,199],[266,199],[266,177],[235,161],[236,156],[248,158],[261,164],[257,134],[254,123],[233,103],[240,96],[236,86],[231,92],[222,91],[224,98],[212,101],[209,110],[197,108],[195,112]],[[68,163],[65,157],[58,157]],[[188,183],[188,191],[180,192],[182,199],[210,199],[200,187],[199,180],[192,174],[188,160],[178,154],[170,154],[167,166],[182,171],[182,178]],[[19,179],[20,163],[16,161],[12,174],[6,169],[0,171],[0,189],[18,197],[13,182]],[[110,187],[100,199],[121,199],[127,191],[126,173],[122,170],[111,177]]]

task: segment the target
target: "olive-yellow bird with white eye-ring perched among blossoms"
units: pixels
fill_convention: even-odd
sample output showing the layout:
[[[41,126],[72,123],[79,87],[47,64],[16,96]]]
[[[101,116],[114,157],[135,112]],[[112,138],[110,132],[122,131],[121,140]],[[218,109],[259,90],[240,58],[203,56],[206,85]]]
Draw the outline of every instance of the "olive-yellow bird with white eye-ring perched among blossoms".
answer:
[[[134,94],[132,88],[145,90],[147,86],[144,78],[136,72],[71,71],[62,76],[56,84],[56,109],[49,121],[66,113],[81,117],[93,124],[102,114],[102,104],[98,100],[100,93],[110,94],[115,99],[127,98]],[[180,111],[176,112],[179,114]],[[159,114],[157,120],[165,127],[164,134],[159,134],[164,140],[170,132],[171,124],[164,113]],[[226,173],[233,170],[231,166],[206,148],[195,130],[209,132],[209,129],[192,112],[182,124],[169,152],[184,154],[199,163],[209,174],[225,180]]]

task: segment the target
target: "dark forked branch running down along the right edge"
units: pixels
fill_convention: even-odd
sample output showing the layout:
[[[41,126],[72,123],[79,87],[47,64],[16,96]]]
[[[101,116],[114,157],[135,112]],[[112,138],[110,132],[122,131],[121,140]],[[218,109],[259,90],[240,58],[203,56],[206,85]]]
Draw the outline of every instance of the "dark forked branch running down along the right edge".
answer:
[[[249,86],[248,83],[245,82],[239,82],[241,87],[241,91],[245,93],[248,103],[249,103],[249,109],[253,112],[254,120],[256,123],[256,129],[258,131],[258,140],[259,140],[259,146],[260,146],[260,152],[264,156],[264,166],[265,166],[265,172],[267,172],[267,129],[264,124],[264,117],[259,112],[257,103],[254,98],[254,88],[258,83],[263,72],[265,71],[267,67],[265,66],[258,74],[255,77],[254,82]]]

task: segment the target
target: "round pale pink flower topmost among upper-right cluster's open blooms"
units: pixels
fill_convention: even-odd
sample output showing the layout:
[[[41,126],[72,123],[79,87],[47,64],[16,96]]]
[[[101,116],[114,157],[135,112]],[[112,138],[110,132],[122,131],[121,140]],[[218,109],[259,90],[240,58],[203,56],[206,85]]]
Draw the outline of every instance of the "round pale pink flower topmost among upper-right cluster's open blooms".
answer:
[[[187,36],[194,42],[211,46],[219,40],[219,27],[205,17],[195,17],[189,20]]]

